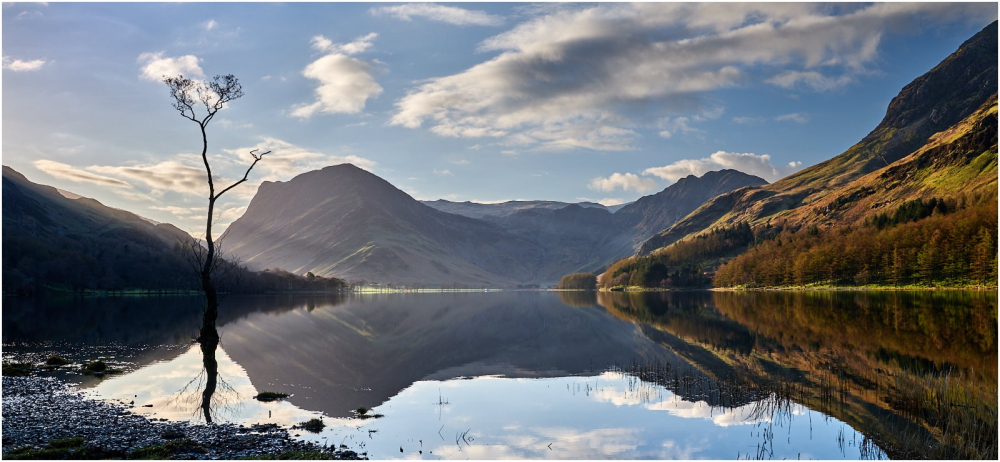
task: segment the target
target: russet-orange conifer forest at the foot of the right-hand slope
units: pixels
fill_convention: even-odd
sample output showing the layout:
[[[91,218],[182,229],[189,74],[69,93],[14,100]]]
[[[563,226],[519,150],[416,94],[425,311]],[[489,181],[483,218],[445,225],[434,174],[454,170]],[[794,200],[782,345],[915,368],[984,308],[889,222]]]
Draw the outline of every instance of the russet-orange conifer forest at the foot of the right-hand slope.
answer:
[[[717,287],[993,286],[997,197],[916,199],[860,226],[782,230],[722,265]]]

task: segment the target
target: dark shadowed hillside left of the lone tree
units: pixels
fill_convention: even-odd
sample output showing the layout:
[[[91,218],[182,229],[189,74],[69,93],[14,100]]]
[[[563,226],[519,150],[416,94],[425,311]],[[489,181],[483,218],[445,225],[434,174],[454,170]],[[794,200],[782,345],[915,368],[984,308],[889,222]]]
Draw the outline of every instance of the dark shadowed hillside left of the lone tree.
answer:
[[[175,248],[189,240],[173,225],[64,195],[3,167],[5,293],[193,288],[194,273]]]

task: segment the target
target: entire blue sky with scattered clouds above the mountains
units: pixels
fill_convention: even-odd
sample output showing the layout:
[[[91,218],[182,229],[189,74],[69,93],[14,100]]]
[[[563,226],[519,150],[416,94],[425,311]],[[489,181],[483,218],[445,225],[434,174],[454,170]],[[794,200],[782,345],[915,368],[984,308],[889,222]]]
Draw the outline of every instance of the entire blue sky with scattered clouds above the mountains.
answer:
[[[198,125],[164,76],[233,74],[224,229],[344,162],[416,199],[594,201],[840,154],[996,3],[4,3],[3,164],[200,235]]]

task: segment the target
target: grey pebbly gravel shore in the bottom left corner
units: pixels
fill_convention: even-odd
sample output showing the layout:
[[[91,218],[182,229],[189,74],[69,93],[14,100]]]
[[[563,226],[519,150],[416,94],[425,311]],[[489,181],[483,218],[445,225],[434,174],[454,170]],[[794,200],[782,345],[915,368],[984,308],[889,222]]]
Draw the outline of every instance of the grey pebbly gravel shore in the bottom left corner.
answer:
[[[321,451],[331,458],[358,459],[346,448],[325,448],[292,439],[276,425],[161,422],[132,414],[122,405],[87,399],[51,377],[3,377],[3,452],[43,448],[51,440],[83,438],[88,448],[129,455],[142,448],[187,439],[179,459],[237,459],[288,451]]]

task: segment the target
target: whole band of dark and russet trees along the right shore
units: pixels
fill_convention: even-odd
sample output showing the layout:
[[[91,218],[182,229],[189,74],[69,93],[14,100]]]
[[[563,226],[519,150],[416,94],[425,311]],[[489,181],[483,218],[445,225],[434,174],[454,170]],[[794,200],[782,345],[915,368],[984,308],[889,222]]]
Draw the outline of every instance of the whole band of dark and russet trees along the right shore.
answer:
[[[853,226],[723,226],[652,255],[620,260],[599,285],[992,286],[996,210],[996,195],[977,194],[914,199]]]

